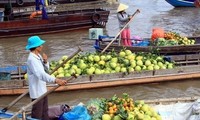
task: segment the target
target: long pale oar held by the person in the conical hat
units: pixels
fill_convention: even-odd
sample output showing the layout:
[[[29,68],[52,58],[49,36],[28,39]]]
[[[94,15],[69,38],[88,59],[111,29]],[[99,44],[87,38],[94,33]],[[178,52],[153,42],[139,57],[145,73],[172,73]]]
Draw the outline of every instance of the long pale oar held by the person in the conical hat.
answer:
[[[126,23],[126,25],[117,33],[117,35],[112,39],[112,41],[110,41],[110,43],[103,49],[103,51],[101,53],[104,53],[108,49],[108,47],[116,40],[116,38],[120,35],[120,33],[131,23],[134,16],[139,12],[140,12],[139,9],[137,9],[135,11],[135,13],[132,15],[132,18],[128,21],[128,23]]]

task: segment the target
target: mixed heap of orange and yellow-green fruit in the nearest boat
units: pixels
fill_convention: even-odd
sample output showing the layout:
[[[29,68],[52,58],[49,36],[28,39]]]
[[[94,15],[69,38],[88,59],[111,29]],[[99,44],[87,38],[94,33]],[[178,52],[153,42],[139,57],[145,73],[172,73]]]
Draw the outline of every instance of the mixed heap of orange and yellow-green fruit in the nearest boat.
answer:
[[[92,120],[161,120],[161,116],[143,100],[134,101],[128,94],[110,99],[92,99],[86,107]]]

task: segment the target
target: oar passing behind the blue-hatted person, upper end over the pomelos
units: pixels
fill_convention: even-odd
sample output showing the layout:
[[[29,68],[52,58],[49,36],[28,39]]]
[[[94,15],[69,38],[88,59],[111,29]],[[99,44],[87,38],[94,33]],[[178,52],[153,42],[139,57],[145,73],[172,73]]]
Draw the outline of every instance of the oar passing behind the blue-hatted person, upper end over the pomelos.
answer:
[[[66,60],[64,60],[60,65],[58,65],[55,69],[53,69],[49,74],[50,75],[53,74],[56,70],[58,70],[60,67],[62,67],[66,62],[68,62],[71,58],[73,58],[80,51],[82,51],[82,49],[80,47],[78,47],[78,50],[76,52],[74,52],[71,56],[69,56]],[[23,94],[21,94],[19,97],[17,97],[15,100],[13,100],[8,106],[6,106],[5,108],[3,108],[0,111],[0,114],[1,113],[5,113],[8,109],[10,109],[13,105],[15,105],[19,100],[21,100],[28,93],[29,93],[29,91],[27,90],[26,92],[24,92]]]

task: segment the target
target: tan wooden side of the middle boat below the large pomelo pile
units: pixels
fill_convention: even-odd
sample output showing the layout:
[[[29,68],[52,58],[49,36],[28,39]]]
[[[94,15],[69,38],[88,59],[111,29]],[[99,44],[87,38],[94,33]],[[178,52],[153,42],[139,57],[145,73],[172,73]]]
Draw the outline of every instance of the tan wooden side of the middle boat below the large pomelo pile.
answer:
[[[60,86],[59,91],[94,89],[114,86],[126,86],[134,84],[162,83],[168,81],[183,81],[200,78],[200,66],[190,65],[174,69],[162,69],[154,71],[142,71],[125,73],[113,73],[103,75],[79,76],[70,81],[67,86]],[[68,79],[68,78],[64,78]],[[18,83],[18,86],[16,85]],[[0,95],[22,94],[28,90],[26,80],[0,81]],[[55,84],[48,85],[48,89],[56,87]]]

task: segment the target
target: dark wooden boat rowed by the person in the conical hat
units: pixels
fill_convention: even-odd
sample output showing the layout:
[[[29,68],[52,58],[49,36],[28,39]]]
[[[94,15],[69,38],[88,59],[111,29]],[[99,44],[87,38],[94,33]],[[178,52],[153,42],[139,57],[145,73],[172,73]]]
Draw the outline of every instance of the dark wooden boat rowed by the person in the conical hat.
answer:
[[[194,45],[173,45],[173,46],[122,46],[118,45],[118,42],[113,42],[112,45],[109,46],[106,51],[119,51],[123,48],[129,49],[132,52],[157,52],[161,55],[177,55],[177,54],[196,54],[200,51],[200,37],[189,37],[189,39],[194,39],[195,44]],[[150,39],[144,39],[144,40],[150,40]],[[95,48],[97,51],[101,52],[110,42],[111,40],[96,40]]]

